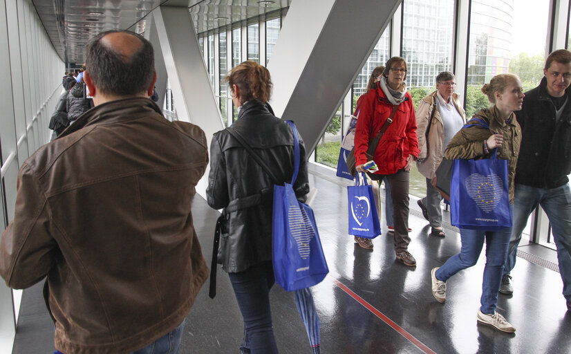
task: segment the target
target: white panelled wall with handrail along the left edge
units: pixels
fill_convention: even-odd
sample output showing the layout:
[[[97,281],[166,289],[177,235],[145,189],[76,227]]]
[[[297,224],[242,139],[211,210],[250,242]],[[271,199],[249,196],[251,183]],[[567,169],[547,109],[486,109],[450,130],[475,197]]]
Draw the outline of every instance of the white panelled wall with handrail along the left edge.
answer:
[[[30,0],[0,1],[0,231],[14,216],[19,166],[48,142],[48,122],[61,91],[65,65]],[[0,352],[15,335],[12,291],[0,281]]]

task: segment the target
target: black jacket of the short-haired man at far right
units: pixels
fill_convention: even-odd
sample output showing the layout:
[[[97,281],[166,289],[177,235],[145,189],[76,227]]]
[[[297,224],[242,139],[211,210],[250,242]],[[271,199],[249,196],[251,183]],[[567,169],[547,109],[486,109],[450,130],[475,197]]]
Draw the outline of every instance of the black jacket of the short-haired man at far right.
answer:
[[[525,93],[523,108],[516,112],[522,140],[516,168],[516,183],[536,188],[554,188],[568,183],[571,171],[571,90],[556,122],[555,106],[543,77]]]

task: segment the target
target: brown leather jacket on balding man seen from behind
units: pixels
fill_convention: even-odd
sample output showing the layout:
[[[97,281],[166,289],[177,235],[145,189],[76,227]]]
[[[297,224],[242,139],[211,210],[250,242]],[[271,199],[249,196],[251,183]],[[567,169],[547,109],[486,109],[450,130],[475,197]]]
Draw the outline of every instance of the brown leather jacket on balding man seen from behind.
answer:
[[[0,275],[47,275],[55,348],[127,353],[173,330],[207,278],[191,215],[204,132],[154,102],[101,104],[21,166]]]

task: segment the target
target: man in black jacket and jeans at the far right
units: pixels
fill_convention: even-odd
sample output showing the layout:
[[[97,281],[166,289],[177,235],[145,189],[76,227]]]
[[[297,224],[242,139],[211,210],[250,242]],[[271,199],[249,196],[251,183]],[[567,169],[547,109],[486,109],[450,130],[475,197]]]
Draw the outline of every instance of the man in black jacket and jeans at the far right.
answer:
[[[527,218],[541,205],[557,246],[563,296],[571,310],[571,52],[555,50],[545,61],[543,79],[525,93],[516,112],[521,125],[521,149],[516,167],[514,226],[500,292],[514,292],[509,272],[514,268],[521,232]]]

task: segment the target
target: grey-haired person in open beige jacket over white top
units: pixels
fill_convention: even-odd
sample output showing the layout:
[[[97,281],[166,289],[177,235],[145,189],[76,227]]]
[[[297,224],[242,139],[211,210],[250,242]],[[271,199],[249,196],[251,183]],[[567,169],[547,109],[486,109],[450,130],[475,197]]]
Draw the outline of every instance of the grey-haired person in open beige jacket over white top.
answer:
[[[444,150],[452,137],[462,128],[466,113],[458,103],[456,77],[443,71],[436,77],[436,91],[424,97],[416,110],[416,133],[420,155],[418,171],[427,178],[427,196],[418,200],[422,215],[430,222],[431,236],[444,237],[442,229],[442,196],[430,183],[442,162]]]

